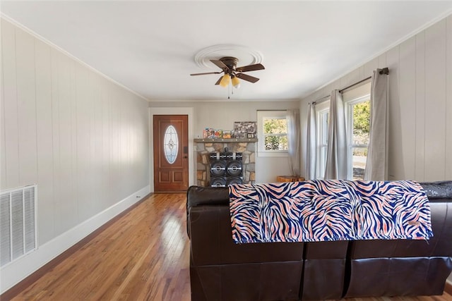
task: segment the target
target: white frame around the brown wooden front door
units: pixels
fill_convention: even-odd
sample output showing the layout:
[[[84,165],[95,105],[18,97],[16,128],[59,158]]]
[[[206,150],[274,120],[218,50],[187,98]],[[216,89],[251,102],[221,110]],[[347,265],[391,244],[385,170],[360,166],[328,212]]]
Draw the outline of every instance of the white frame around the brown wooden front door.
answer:
[[[193,107],[174,107],[174,108],[149,108],[149,180],[150,180],[150,192],[155,192],[154,189],[154,115],[188,115],[189,116],[189,186],[194,185],[194,162],[196,161],[193,151],[194,143],[194,130],[193,130]]]

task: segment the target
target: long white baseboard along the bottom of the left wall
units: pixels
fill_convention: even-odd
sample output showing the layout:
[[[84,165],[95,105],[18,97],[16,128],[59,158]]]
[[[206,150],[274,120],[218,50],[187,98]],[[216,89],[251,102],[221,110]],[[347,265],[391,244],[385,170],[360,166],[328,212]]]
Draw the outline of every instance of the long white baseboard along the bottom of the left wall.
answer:
[[[69,247],[72,247],[90,233],[93,233],[97,228],[143,199],[149,193],[150,185],[137,192],[133,192],[129,197],[122,199],[112,207],[83,221],[57,238],[44,243],[44,245],[38,247],[34,252],[25,254],[14,262],[3,266],[0,269],[0,294],[6,292],[6,290],[12,288],[27,276],[30,276],[33,272],[44,266],[44,264],[47,264],[59,254],[68,250]]]

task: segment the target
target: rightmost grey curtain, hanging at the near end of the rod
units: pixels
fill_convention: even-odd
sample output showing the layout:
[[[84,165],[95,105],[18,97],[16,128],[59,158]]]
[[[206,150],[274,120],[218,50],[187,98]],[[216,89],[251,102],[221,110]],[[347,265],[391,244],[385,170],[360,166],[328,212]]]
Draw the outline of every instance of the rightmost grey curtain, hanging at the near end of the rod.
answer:
[[[370,133],[364,180],[387,180],[388,178],[388,75],[372,73],[370,92]]]

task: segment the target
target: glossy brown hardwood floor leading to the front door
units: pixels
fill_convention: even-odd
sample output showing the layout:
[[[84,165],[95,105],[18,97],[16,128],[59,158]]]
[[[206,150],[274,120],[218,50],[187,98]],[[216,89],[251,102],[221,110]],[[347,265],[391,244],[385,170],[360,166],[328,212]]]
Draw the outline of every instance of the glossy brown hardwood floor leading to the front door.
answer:
[[[184,193],[151,195],[12,300],[190,300],[185,202]],[[370,300],[452,296],[349,299]]]

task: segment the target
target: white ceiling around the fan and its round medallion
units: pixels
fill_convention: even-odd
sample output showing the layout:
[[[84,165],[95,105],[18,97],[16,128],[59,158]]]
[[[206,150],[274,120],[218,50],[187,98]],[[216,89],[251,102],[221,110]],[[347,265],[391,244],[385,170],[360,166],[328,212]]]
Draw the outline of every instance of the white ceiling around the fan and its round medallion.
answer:
[[[266,70],[231,99],[299,99],[452,12],[452,1],[1,1],[6,18],[150,101],[225,100],[207,59]],[[216,46],[215,46],[216,47]],[[214,48],[215,48],[214,47]],[[230,47],[217,47],[229,49]]]

